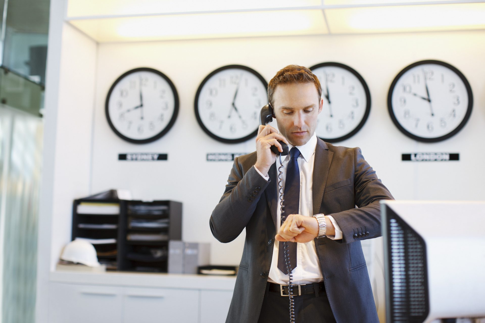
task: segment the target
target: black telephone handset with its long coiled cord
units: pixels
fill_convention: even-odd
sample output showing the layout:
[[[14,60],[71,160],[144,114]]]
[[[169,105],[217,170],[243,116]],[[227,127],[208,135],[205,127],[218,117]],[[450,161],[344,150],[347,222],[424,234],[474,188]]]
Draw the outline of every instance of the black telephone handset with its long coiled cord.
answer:
[[[266,125],[270,122],[273,121],[274,117],[274,110],[273,107],[271,107],[270,104],[265,105],[261,109],[261,116],[260,116],[260,122],[262,125]],[[281,156],[286,156],[287,154],[290,154],[290,147],[288,147],[288,144],[284,143],[281,140],[278,140],[278,142],[281,144],[281,148],[283,149],[283,152],[280,153],[278,148],[276,146],[271,146],[271,151],[277,155],[279,155],[279,167],[278,167],[278,192],[279,192],[279,205],[280,205],[280,212],[281,216],[283,216],[284,207],[285,205],[283,204],[283,192],[284,192],[284,187],[282,185],[283,182],[283,162],[281,160]],[[283,243],[283,249],[284,249],[284,254],[285,254],[285,263],[286,263],[286,268],[288,271],[288,294],[289,294],[289,299],[290,299],[290,322],[294,323],[295,322],[295,305],[294,305],[294,299],[293,299],[293,273],[291,272],[291,266],[290,266],[290,250],[289,250],[289,245],[288,243]]]

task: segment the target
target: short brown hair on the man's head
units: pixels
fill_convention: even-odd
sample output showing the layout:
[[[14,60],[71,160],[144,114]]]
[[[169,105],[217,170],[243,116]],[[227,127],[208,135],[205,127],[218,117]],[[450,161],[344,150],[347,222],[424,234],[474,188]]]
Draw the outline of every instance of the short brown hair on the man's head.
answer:
[[[318,92],[318,99],[322,97],[320,81],[307,67],[288,65],[278,71],[268,84],[268,102],[274,107],[273,95],[278,84],[314,83]]]

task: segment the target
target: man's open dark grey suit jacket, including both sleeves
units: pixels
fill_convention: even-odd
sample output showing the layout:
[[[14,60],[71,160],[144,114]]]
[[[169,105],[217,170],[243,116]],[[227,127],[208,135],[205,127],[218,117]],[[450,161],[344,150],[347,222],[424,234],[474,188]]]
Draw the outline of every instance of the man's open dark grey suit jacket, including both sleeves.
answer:
[[[210,216],[220,242],[246,228],[246,240],[226,323],[257,323],[276,234],[276,166],[267,182],[254,168],[256,152],[234,159],[226,190]],[[379,200],[393,199],[360,148],[317,140],[313,212],[332,215],[342,240],[315,238],[325,289],[338,323],[378,323],[360,240],[381,235]],[[356,206],[358,208],[356,208]],[[277,243],[277,242],[276,242]]]

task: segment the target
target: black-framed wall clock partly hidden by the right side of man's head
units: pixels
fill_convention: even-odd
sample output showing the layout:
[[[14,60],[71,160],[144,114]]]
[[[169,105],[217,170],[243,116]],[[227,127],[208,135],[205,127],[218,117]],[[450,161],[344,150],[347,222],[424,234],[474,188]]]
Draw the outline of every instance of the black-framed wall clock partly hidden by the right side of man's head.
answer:
[[[371,112],[371,93],[364,78],[352,67],[324,62],[310,67],[322,86],[323,108],[318,115],[317,136],[337,142],[354,136]]]

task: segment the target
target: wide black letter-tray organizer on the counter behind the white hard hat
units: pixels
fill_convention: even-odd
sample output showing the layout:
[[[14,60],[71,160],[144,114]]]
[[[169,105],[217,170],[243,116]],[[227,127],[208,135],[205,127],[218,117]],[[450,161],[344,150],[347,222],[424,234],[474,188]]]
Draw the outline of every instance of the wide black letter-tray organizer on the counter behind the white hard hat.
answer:
[[[119,203],[116,215],[78,214],[81,202]],[[139,212],[143,208],[154,208],[156,212]],[[152,210],[153,211],[153,210]],[[133,220],[142,221],[146,227],[133,226]],[[80,223],[117,225],[116,229],[79,228]],[[150,225],[158,223],[159,225]],[[130,225],[131,224],[131,225]],[[170,200],[118,200],[79,199],[74,200],[72,212],[72,240],[76,237],[90,239],[116,239],[113,244],[94,244],[98,261],[107,265],[107,270],[144,271],[166,273],[168,268],[168,241],[182,239],[182,203]],[[155,235],[157,240],[133,240],[133,234]],[[146,237],[146,236],[145,236]],[[99,254],[101,253],[101,254]]]

